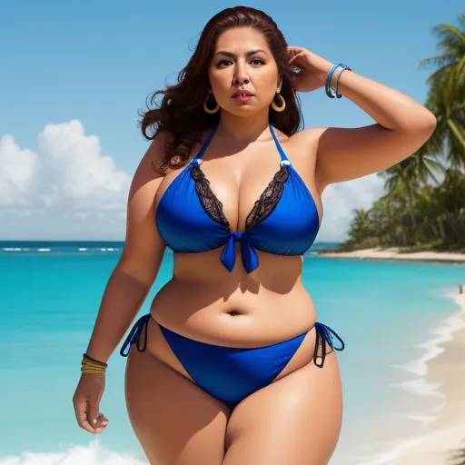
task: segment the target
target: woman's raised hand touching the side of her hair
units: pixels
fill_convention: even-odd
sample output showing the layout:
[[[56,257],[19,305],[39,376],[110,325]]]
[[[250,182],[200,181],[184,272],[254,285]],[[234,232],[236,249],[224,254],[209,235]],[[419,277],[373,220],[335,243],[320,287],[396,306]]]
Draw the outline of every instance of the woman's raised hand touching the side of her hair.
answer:
[[[312,92],[325,84],[333,64],[302,47],[288,46],[289,64],[301,72],[294,73],[292,87],[297,92]]]

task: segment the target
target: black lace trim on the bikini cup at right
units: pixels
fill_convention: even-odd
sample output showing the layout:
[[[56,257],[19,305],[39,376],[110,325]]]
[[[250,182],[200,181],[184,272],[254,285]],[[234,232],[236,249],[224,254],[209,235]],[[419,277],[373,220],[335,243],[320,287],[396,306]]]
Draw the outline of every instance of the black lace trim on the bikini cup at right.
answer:
[[[262,221],[272,214],[272,211],[281,200],[284,183],[288,178],[289,170],[287,165],[284,164],[281,166],[280,171],[274,174],[272,181],[262,192],[260,199],[254,203],[252,212],[249,213],[245,220],[245,230],[256,226],[258,223],[262,223]]]

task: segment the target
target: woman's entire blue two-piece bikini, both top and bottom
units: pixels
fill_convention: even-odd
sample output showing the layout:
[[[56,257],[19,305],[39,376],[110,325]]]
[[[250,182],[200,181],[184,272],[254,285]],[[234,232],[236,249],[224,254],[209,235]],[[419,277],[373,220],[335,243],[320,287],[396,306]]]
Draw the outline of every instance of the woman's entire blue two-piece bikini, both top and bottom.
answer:
[[[242,264],[248,273],[259,265],[256,250],[274,255],[302,255],[316,238],[320,218],[312,193],[282,151],[272,125],[270,131],[281,155],[280,169],[253,205],[244,231],[235,232],[224,216],[223,204],[214,195],[201,169],[203,153],[217,127],[213,127],[199,152],[168,186],[158,203],[155,217],[163,241],[173,252],[180,253],[223,247],[220,260],[228,272],[232,272],[235,265],[234,242],[241,244]],[[150,314],[143,315],[134,324],[121,355],[127,357],[133,344],[139,351],[145,350],[150,318]],[[162,326],[160,329],[193,381],[231,409],[252,392],[270,384],[292,359],[307,334],[266,347],[238,349],[193,341]],[[145,337],[141,342],[143,330]],[[315,323],[315,331],[313,361],[322,367],[325,342],[337,351],[344,349],[344,343],[336,332],[320,322]],[[334,346],[334,337],[340,341],[340,347]],[[318,361],[320,347],[321,362]]]

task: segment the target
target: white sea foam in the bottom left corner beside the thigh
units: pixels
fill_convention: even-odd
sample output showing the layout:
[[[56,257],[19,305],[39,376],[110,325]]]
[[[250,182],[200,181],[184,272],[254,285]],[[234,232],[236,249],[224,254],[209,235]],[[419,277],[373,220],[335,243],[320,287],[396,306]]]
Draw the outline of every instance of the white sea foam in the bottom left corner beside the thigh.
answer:
[[[0,465],[148,465],[130,455],[105,450],[98,440],[88,446],[74,446],[63,452],[24,452],[0,458]]]

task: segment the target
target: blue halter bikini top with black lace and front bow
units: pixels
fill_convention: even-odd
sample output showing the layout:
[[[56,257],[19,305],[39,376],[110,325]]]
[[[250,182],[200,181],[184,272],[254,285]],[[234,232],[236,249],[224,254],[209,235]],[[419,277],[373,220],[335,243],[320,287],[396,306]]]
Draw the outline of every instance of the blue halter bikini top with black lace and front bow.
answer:
[[[312,193],[292,167],[270,124],[281,155],[280,169],[254,203],[244,231],[232,231],[224,216],[223,203],[213,193],[203,174],[202,156],[218,124],[208,134],[199,152],[166,188],[155,218],[163,241],[173,252],[206,252],[223,246],[221,261],[232,272],[234,242],[240,242],[242,263],[250,273],[259,264],[256,250],[275,255],[302,255],[312,246],[320,228]]]

